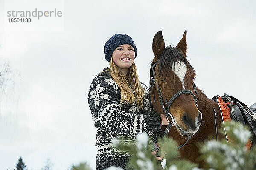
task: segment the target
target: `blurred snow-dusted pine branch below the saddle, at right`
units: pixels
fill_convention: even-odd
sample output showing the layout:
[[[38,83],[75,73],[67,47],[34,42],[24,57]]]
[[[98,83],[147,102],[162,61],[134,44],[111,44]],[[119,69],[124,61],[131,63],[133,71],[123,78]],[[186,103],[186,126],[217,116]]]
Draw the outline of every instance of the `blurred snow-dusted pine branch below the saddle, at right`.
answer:
[[[255,170],[256,147],[247,149],[246,144],[251,136],[248,127],[236,122],[225,122],[221,133],[228,136],[221,141],[210,140],[201,144],[201,159],[208,167],[215,170]]]

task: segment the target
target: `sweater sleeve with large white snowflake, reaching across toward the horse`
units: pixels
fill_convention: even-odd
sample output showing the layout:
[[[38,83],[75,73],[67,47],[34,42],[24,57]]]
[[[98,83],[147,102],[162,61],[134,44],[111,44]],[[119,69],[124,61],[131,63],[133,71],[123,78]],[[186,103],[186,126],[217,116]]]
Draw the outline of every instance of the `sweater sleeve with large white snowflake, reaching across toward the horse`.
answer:
[[[113,79],[98,76],[93,79],[88,103],[95,125],[103,125],[117,134],[136,134],[150,130],[159,131],[160,115],[145,115],[123,111],[117,99],[118,86]]]

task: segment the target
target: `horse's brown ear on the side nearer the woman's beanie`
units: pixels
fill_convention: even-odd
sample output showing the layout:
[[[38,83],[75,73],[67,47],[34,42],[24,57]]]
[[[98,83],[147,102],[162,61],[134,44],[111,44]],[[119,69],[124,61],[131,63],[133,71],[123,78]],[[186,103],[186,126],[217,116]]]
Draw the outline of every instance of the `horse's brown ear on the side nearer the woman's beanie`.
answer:
[[[158,31],[153,38],[152,49],[155,55],[155,60],[159,59],[164,50],[164,40],[162,31]]]

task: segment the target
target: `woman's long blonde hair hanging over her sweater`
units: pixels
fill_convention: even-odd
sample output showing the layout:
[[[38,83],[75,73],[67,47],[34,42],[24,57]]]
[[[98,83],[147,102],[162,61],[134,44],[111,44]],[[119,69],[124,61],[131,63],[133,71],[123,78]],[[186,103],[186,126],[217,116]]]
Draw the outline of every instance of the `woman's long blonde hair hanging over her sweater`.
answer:
[[[121,91],[121,100],[119,104],[128,102],[132,104],[134,101],[136,101],[139,108],[143,109],[145,89],[140,85],[137,68],[135,64],[133,63],[131,67],[128,68],[128,73],[126,77],[122,73],[122,71],[119,71],[118,67],[113,62],[112,57],[110,59],[109,65],[110,68],[105,71],[109,71],[111,77],[119,86],[119,89]],[[129,84],[131,85],[131,88]],[[135,95],[133,94],[131,89],[134,91]]]

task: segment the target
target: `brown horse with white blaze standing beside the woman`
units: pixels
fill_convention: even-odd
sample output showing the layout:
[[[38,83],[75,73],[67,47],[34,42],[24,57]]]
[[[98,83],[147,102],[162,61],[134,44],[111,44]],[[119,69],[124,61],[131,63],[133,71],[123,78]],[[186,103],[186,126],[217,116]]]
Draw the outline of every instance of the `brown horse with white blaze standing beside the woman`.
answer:
[[[195,70],[187,59],[186,32],[176,47],[165,47],[162,31],[155,34],[149,94],[151,111],[165,113],[171,122],[162,130],[169,128],[166,135],[180,144],[180,157],[197,162],[198,142],[209,136],[224,136],[217,130],[222,124],[218,103],[195,85]],[[199,167],[203,165],[199,161]]]

